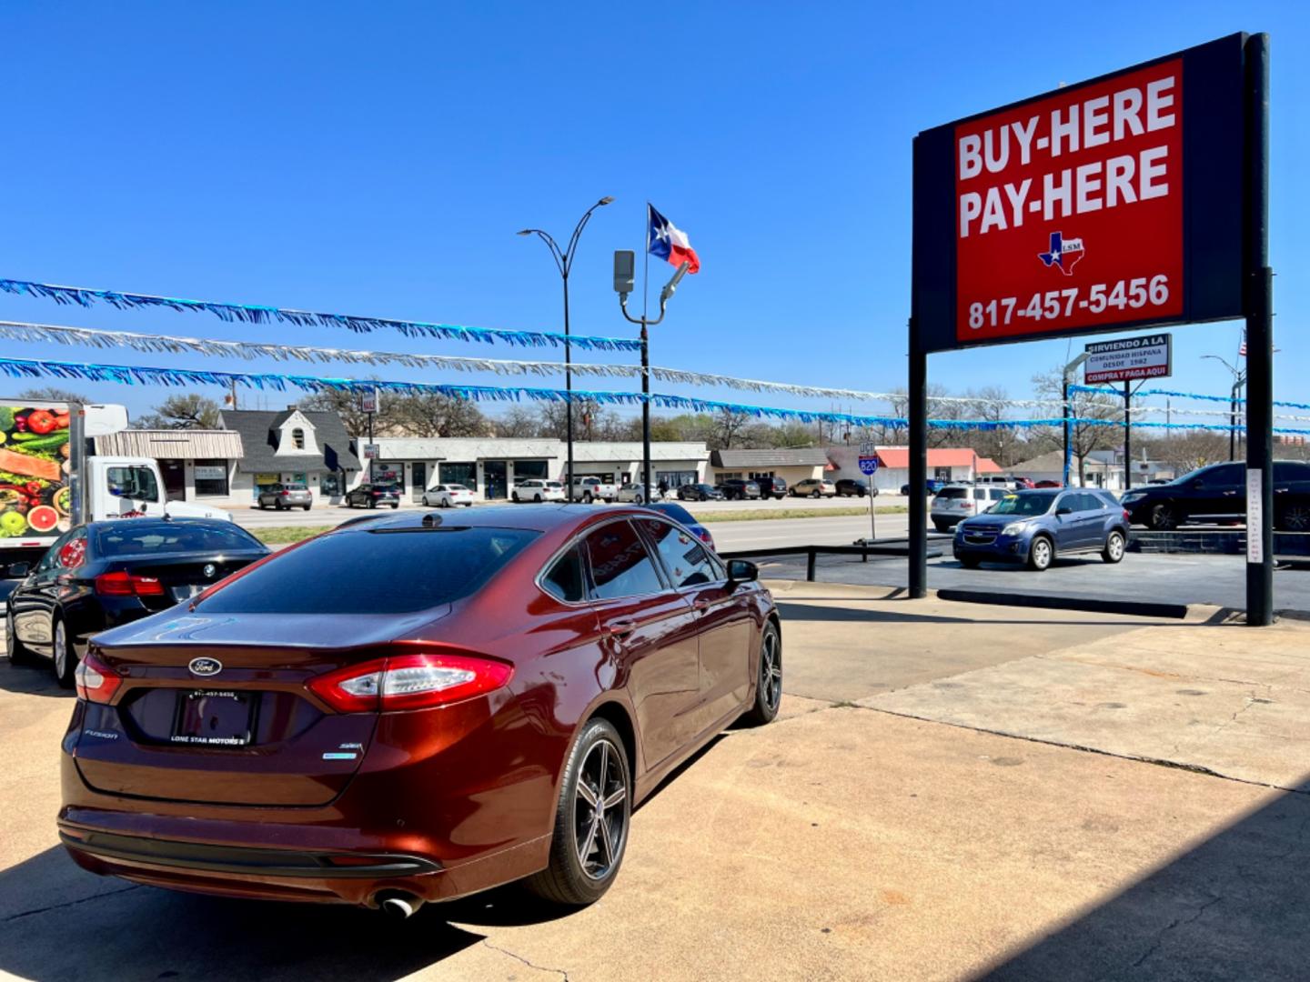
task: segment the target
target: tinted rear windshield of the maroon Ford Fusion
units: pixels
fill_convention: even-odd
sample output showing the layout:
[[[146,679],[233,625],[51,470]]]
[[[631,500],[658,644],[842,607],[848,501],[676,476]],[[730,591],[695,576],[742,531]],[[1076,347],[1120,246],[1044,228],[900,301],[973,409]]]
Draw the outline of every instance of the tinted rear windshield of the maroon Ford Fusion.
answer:
[[[402,614],[477,592],[538,533],[486,526],[322,536],[196,609],[215,614]]]

